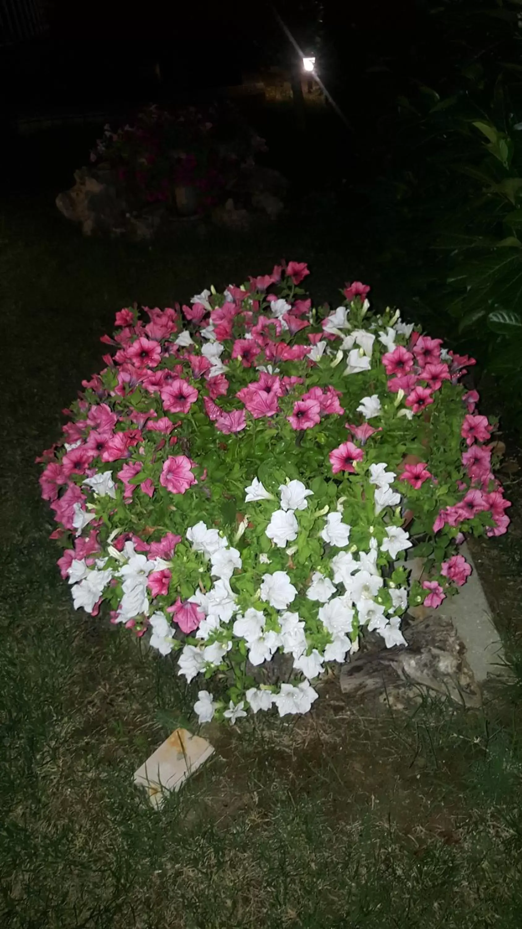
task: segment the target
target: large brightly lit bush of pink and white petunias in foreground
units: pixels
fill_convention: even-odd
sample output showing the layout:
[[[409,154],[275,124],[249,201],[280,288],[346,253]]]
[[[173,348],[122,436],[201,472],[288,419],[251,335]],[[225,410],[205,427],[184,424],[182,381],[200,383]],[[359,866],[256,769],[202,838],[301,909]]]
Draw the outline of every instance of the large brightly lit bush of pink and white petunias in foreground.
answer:
[[[200,722],[306,713],[311,681],[362,634],[405,645],[408,606],[465,583],[466,533],[509,522],[494,424],[461,383],[474,361],[373,314],[359,281],[318,311],[308,273],[289,262],[190,306],[121,309],[113,354],[39,459],[74,607],[107,604],[209,682]],[[290,670],[273,684],[278,654]]]

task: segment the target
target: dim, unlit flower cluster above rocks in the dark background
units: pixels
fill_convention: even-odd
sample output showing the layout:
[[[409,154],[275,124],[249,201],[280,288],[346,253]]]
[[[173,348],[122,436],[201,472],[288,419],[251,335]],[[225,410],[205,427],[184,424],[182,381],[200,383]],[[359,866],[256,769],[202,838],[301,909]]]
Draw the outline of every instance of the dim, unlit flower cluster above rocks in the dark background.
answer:
[[[91,163],[116,173],[130,203],[164,203],[175,208],[175,191],[194,189],[197,209],[205,212],[223,199],[223,190],[241,164],[265,150],[230,104],[175,111],[149,107],[134,124],[104,136],[91,152]]]

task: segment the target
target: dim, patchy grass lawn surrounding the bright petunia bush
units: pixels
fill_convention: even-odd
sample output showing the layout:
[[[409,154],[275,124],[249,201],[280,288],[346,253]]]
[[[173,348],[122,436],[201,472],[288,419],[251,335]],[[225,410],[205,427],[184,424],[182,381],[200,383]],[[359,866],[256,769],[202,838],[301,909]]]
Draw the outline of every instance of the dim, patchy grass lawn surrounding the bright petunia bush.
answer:
[[[297,723],[209,726],[215,756],[159,814],[132,775],[172,728],[194,726],[196,688],[129,633],[75,613],[48,540],[34,457],[99,368],[115,310],[186,301],[281,256],[308,260],[316,299],[335,300],[345,280],[371,282],[353,227],[298,203],[248,236],[189,230],[149,247],[83,240],[46,192],[6,200],[3,927],[519,929],[516,686],[479,712],[425,698],[374,713],[327,681]],[[500,578],[495,607],[514,641],[521,551],[515,531],[477,553]]]

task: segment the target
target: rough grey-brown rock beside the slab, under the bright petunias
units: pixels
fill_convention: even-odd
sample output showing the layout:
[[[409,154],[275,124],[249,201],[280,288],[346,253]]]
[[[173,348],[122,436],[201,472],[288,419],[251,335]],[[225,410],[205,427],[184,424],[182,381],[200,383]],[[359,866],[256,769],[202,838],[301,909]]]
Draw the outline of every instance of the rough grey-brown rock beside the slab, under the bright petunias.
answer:
[[[450,620],[431,614],[403,632],[408,648],[359,653],[344,665],[340,674],[342,692],[363,697],[414,684],[466,707],[480,705],[480,690]]]

